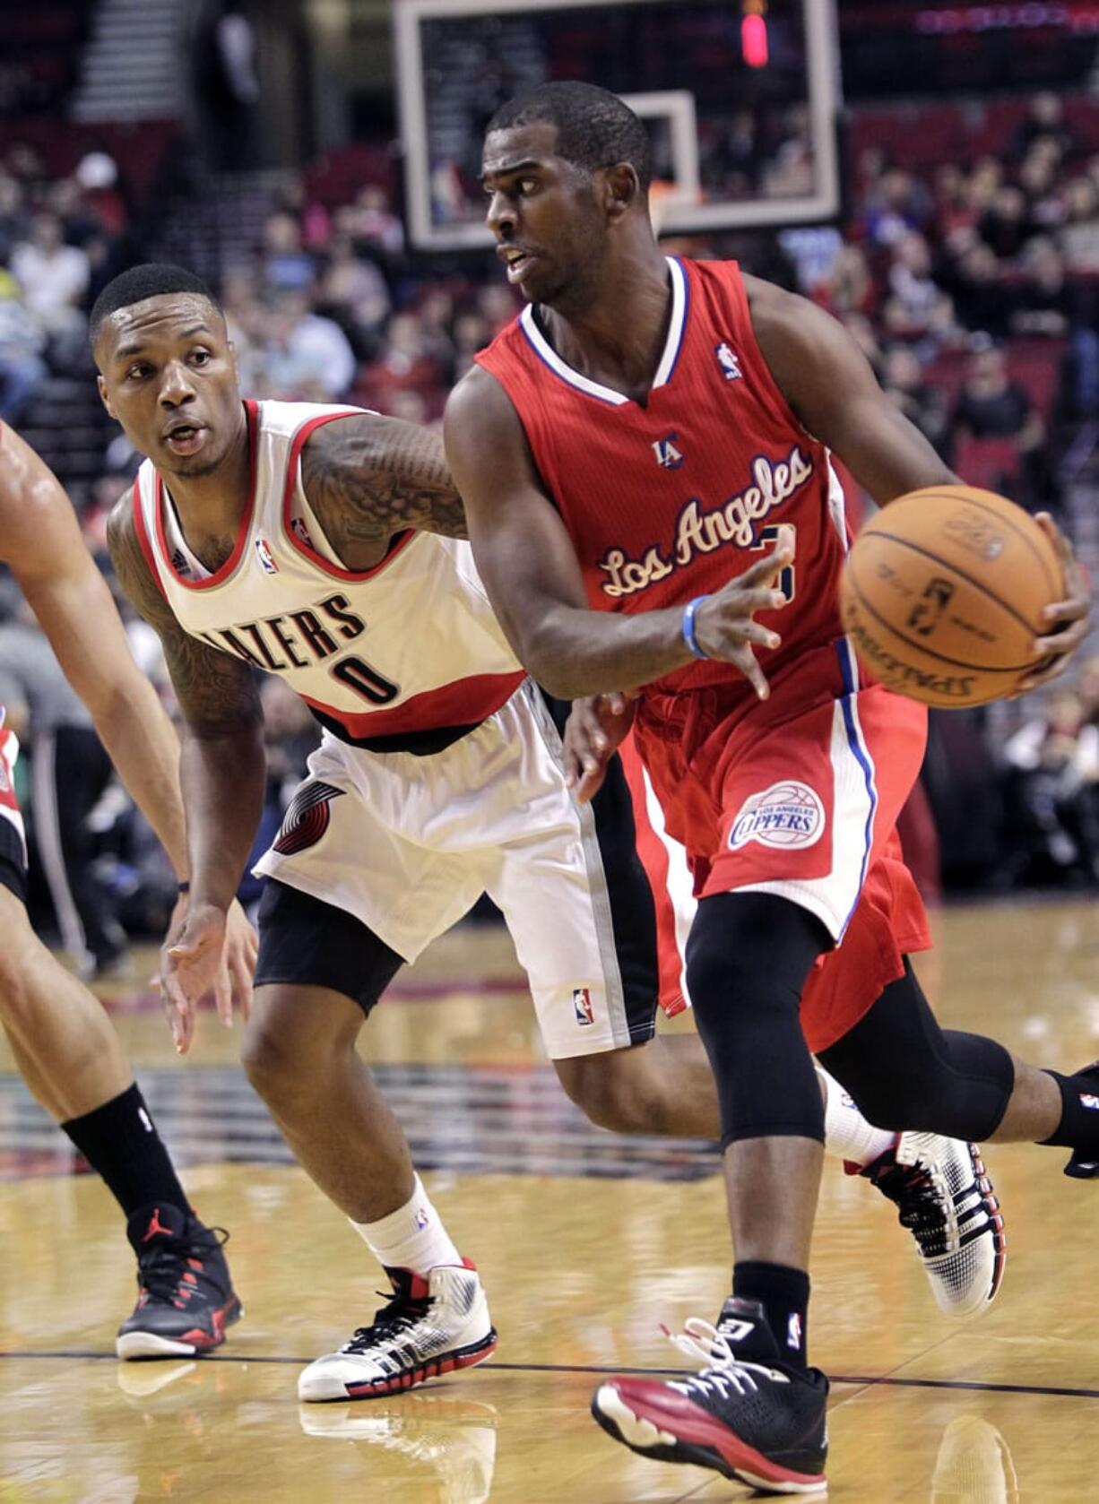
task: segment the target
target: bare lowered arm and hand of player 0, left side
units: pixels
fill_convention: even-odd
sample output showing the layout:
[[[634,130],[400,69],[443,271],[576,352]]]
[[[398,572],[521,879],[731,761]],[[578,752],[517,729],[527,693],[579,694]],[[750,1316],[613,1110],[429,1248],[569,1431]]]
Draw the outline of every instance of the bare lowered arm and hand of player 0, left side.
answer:
[[[122,588],[159,635],[183,713],[179,782],[191,892],[182,926],[173,920],[161,951],[161,984],[176,1047],[186,1050],[206,993],[213,991],[223,1023],[232,1023],[233,1000],[248,1008],[254,943],[233,895],[263,811],[260,696],[247,663],[198,642],[176,620],[137,540],[129,495],[111,513],[107,541]]]

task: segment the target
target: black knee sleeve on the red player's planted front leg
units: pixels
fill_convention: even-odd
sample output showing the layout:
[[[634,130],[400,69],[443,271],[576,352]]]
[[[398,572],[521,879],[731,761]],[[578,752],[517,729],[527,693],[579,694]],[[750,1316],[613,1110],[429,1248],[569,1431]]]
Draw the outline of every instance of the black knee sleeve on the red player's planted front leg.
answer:
[[[827,931],[771,893],[704,898],[687,942],[687,985],[722,1107],[738,1139],[824,1140],[824,1107],[801,1033],[801,990]]]

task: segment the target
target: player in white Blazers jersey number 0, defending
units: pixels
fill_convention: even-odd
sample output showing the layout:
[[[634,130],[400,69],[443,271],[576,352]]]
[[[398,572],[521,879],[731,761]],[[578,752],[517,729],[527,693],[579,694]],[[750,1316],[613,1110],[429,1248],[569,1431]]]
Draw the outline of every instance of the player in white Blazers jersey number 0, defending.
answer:
[[[161,635],[185,720],[192,880],[164,955],[176,1038],[186,1048],[260,817],[265,669],[302,695],[323,740],[257,866],[269,881],[244,1065],[394,1286],[370,1325],[304,1372],[299,1396],[409,1388],[483,1361],[496,1334],[355,1042],[401,963],[481,892],[504,911],[546,1050],[588,1114],[624,1131],[717,1131],[698,1038],[654,1038],[654,901],[621,770],[591,806],[571,797],[558,728],[474,569],[437,435],[242,402],[224,317],[179,268],[110,283],[92,340],[104,403],[147,456],[113,513],[111,556]],[[1001,1241],[968,1148],[905,1152],[831,1105],[833,1148],[878,1167],[922,1238],[934,1226],[920,1247],[940,1304],[985,1304]],[[959,1299],[962,1238],[979,1272]]]

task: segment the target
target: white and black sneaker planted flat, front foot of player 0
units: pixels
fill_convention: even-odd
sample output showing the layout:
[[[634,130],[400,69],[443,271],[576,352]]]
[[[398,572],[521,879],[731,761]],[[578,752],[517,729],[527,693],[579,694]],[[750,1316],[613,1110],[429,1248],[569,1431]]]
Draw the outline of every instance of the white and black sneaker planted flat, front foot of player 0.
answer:
[[[298,1379],[299,1400],[368,1400],[410,1390],[490,1358],[496,1331],[481,1278],[466,1259],[439,1265],[427,1278],[386,1269],[392,1299],[338,1352],[311,1363]]]

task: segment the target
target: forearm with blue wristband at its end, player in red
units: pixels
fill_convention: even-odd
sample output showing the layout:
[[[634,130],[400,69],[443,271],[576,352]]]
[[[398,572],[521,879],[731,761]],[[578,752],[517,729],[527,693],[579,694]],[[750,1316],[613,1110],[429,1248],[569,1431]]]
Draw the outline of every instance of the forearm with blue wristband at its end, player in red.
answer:
[[[558,699],[636,689],[693,662],[683,606],[633,617],[555,606],[516,638],[532,678]]]

